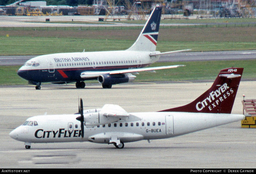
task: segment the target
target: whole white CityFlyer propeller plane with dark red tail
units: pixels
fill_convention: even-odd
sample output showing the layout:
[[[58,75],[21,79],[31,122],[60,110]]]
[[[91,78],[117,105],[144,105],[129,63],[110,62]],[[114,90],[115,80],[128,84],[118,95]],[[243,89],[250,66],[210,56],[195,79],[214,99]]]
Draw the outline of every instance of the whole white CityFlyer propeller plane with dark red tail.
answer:
[[[158,112],[128,113],[118,105],[69,115],[28,118],[10,132],[14,140],[31,143],[93,142],[114,144],[170,138],[244,119],[231,114],[243,68],[222,69],[213,85],[188,105]]]

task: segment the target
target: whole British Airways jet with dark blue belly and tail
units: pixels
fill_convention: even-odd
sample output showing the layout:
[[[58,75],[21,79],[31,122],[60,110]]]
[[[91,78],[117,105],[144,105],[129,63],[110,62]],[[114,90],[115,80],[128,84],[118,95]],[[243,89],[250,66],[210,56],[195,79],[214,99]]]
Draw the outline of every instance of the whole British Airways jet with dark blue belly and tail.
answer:
[[[19,70],[18,75],[41,89],[42,82],[65,84],[76,82],[77,88],[84,88],[84,80],[98,79],[103,88],[114,84],[131,82],[140,71],[176,68],[175,66],[150,67],[161,54],[156,51],[162,7],[155,7],[136,42],[124,51],[100,51],[57,53],[34,57]]]

